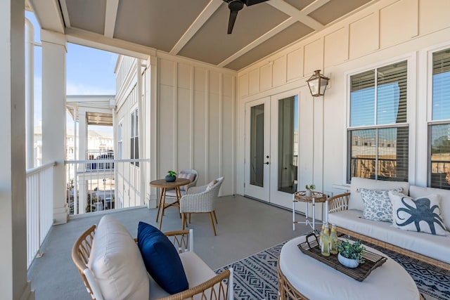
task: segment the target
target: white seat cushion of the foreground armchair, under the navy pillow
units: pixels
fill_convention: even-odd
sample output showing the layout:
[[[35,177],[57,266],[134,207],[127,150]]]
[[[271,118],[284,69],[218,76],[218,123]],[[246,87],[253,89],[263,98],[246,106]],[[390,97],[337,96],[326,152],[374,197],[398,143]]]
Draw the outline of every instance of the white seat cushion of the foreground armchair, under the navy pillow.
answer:
[[[183,252],[180,254],[181,263],[183,263],[186,278],[188,278],[189,288],[200,285],[213,278],[216,273],[198,257],[194,252]],[[150,277],[150,276],[149,276]],[[169,294],[162,289],[153,278],[150,278],[150,297],[148,299],[158,299]]]

